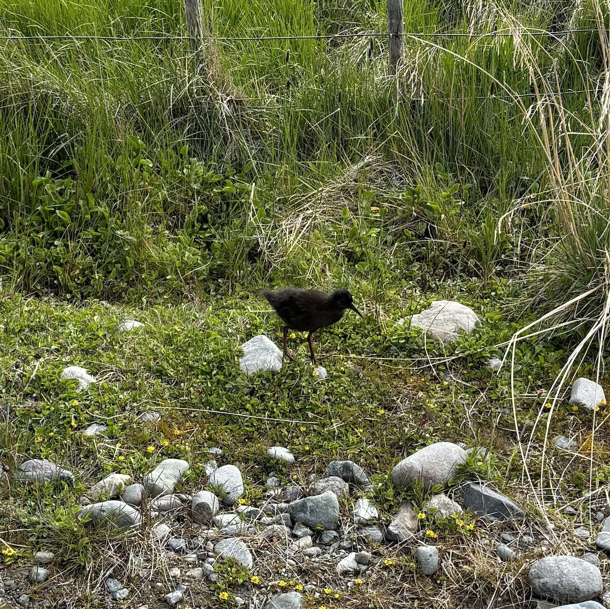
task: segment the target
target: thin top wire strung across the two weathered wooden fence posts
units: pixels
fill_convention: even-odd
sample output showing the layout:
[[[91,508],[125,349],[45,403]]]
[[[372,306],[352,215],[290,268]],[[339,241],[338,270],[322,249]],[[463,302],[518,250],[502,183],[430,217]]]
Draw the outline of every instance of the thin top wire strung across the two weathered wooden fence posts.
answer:
[[[557,32],[548,32],[546,30],[521,30],[516,32],[404,32],[402,34],[407,38],[501,38],[515,36],[550,36],[553,38],[566,34],[593,34],[598,32],[597,29],[569,29],[560,30]],[[333,38],[379,38],[387,37],[388,32],[354,32],[353,34],[319,34],[309,36],[204,36],[210,40],[221,41],[265,41],[265,40],[326,40]],[[396,35],[396,34],[395,34]],[[95,36],[95,35],[74,35],[74,34],[54,34],[54,35],[27,35],[21,36],[16,34],[0,34],[0,40],[101,40],[101,41],[164,41],[164,40],[184,40],[188,35],[168,36]]]

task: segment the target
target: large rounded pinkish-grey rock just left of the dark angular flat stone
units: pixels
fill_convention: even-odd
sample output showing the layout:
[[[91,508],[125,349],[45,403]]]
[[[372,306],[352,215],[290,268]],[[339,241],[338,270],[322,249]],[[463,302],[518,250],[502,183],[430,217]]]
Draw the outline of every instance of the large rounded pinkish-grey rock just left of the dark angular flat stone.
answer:
[[[459,466],[466,461],[466,452],[451,442],[436,442],[403,459],[392,470],[392,483],[397,488],[408,488],[415,480],[426,487],[445,485],[458,475]]]

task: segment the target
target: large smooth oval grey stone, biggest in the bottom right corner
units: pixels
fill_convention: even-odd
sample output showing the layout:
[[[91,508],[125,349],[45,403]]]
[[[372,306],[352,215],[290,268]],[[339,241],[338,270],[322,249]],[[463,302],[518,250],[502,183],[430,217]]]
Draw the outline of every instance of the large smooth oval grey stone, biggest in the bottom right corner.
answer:
[[[590,600],[603,591],[600,570],[573,556],[537,560],[529,568],[528,580],[535,596],[556,603]]]

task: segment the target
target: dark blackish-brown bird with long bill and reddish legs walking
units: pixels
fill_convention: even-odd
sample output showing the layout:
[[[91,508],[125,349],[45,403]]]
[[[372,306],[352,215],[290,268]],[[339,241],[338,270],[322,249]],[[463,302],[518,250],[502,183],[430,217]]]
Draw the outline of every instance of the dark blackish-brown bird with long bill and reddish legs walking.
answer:
[[[335,290],[331,294],[319,292],[318,290],[300,290],[296,287],[284,287],[276,292],[262,290],[260,293],[267,298],[269,304],[284,322],[284,353],[290,361],[294,359],[286,348],[286,337],[288,330],[298,332],[309,332],[307,342],[309,343],[309,354],[312,364],[315,364],[315,353],[313,334],[320,328],[325,328],[337,323],[345,313],[345,309],[362,314],[354,306],[354,299],[350,292],[345,289]],[[364,317],[362,317],[364,319]]]

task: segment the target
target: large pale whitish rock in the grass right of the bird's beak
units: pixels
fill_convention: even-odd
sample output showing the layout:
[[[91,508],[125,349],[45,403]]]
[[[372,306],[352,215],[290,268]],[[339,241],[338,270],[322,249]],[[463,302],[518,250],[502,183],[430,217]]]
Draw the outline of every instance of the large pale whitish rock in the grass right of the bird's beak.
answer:
[[[421,313],[411,315],[411,326],[422,328],[440,342],[454,341],[459,331],[470,334],[479,322],[475,312],[464,304],[451,300],[437,300]]]

